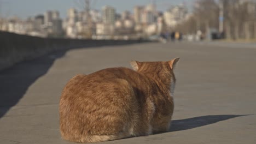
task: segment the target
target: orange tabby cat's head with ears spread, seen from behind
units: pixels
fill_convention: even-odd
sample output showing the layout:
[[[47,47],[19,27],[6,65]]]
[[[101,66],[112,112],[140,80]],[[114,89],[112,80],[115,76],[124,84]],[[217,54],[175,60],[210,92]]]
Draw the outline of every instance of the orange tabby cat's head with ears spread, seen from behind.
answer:
[[[174,58],[167,62],[132,61],[131,66],[138,73],[152,77],[156,81],[161,81],[164,85],[170,85],[171,93],[173,93],[176,82],[173,70],[178,61],[179,58]]]

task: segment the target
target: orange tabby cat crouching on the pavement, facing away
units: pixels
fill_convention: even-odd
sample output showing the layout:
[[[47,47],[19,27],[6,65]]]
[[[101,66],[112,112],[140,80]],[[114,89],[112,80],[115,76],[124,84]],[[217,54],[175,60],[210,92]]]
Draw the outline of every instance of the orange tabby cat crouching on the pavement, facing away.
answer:
[[[134,70],[108,68],[74,76],[60,99],[63,139],[100,142],[167,131],[178,61],[133,61]]]

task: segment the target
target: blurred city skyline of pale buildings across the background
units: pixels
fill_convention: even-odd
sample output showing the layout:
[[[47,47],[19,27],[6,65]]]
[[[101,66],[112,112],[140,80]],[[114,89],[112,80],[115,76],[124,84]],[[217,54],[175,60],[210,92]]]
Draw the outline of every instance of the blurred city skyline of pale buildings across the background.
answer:
[[[124,10],[121,14],[115,7],[105,5],[101,10],[91,9],[88,13],[84,9],[69,8],[64,19],[56,9],[23,20],[2,18],[0,31],[37,37],[129,39],[160,34],[188,17],[190,14],[184,4],[175,5],[162,14],[157,12],[155,3],[135,5],[131,11]]]

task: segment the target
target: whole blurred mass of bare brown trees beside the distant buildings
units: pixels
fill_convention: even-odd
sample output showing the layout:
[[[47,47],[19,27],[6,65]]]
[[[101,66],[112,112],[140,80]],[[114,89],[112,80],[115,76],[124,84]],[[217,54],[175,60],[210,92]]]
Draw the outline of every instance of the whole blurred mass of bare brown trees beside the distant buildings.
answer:
[[[227,39],[256,38],[256,1],[197,0],[190,17],[176,26],[185,34],[207,33],[210,28],[224,29]]]

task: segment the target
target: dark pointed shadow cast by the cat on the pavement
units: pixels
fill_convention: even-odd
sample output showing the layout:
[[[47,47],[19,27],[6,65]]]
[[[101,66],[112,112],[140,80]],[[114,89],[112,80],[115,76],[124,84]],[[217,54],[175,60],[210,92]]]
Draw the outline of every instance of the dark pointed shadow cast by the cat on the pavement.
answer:
[[[168,132],[193,129],[193,128],[217,123],[220,121],[225,121],[230,118],[241,117],[241,116],[248,116],[248,115],[208,115],[208,116],[173,120]]]

